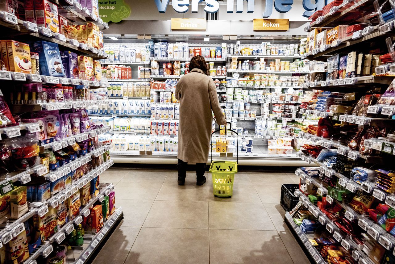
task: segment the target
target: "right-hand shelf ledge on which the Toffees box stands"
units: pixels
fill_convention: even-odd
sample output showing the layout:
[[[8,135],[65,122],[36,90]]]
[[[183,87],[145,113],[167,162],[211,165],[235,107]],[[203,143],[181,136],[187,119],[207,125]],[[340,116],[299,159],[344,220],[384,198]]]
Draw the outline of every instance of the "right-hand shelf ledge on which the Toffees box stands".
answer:
[[[357,49],[361,48],[364,44],[370,44],[370,42],[380,42],[384,41],[384,38],[387,38],[389,36],[393,36],[394,32],[391,30],[389,32],[383,32],[380,33],[379,27],[384,28],[387,25],[390,25],[391,28],[393,28],[394,21],[388,22],[382,26],[374,26],[373,31],[370,34],[367,34],[365,36],[361,36],[360,38],[357,39],[352,39],[352,36],[348,36],[346,38],[343,38],[342,40],[335,40],[332,42],[331,47],[328,47],[328,45],[323,46],[322,51],[318,51],[316,54],[305,54],[303,58],[307,58],[309,60],[327,60],[327,57],[323,57],[323,55],[332,55],[336,53],[343,53],[346,52],[350,49]],[[336,46],[337,45],[337,46]],[[365,45],[366,47],[369,47],[370,49],[372,48],[370,45]],[[326,48],[326,49],[325,49]],[[306,56],[306,57],[305,57]]]

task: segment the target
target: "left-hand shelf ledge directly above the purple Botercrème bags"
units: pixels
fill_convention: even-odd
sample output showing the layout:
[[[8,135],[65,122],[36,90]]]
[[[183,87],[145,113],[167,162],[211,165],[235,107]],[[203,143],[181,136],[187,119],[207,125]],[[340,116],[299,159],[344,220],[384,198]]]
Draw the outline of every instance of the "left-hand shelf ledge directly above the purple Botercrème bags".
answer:
[[[41,104],[12,104],[11,109],[13,113],[24,113],[32,111],[47,110],[62,110],[71,108],[81,108],[87,106],[100,106],[109,104],[109,100],[82,100],[73,102],[52,102]]]

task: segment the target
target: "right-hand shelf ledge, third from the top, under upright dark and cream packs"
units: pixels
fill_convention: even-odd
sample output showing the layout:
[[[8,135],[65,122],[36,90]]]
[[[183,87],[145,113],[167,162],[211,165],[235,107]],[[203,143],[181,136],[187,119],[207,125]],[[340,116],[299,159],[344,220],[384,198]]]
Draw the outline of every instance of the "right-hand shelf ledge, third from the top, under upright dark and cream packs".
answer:
[[[382,85],[389,85],[392,80],[393,76],[375,76],[375,75],[368,75],[368,76],[360,76],[360,77],[350,77],[346,79],[337,79],[337,80],[328,80],[328,81],[315,81],[311,83],[303,83],[301,88],[316,88],[320,87],[321,89],[332,89],[333,88],[356,88],[356,87],[366,87],[366,85],[371,84],[382,84]]]

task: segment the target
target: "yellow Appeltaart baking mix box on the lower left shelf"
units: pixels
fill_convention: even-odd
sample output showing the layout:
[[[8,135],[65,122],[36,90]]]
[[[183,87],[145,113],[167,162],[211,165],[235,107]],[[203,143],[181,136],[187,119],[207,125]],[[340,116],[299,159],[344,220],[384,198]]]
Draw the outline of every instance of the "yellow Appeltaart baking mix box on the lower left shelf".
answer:
[[[45,241],[50,236],[58,232],[58,219],[57,219],[56,208],[48,207],[48,213],[43,217],[39,217],[37,214],[33,216],[33,226],[37,230],[40,230],[41,241]]]

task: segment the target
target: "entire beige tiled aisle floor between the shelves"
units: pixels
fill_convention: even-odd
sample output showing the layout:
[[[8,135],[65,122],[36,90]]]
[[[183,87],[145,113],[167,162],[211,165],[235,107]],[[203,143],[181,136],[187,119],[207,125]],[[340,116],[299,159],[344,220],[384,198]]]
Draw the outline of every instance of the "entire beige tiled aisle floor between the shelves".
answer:
[[[207,177],[209,176],[209,177]],[[107,170],[100,181],[115,185],[124,220],[94,264],[308,264],[284,223],[282,183],[293,173],[242,173],[233,196],[213,195],[211,174],[203,186],[188,172],[177,185],[176,171]]]

